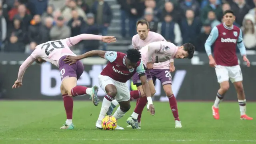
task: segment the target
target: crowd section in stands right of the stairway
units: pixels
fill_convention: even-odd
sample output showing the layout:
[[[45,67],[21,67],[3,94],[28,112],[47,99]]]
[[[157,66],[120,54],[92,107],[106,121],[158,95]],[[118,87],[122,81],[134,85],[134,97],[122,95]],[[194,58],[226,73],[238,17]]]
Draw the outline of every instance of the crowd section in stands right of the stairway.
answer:
[[[247,49],[256,48],[256,0],[118,0],[121,5],[122,36],[130,38],[136,20],[144,18],[150,30],[174,44],[190,42],[205,52],[204,43],[211,29],[222,23],[223,12],[233,10],[234,25],[241,28]],[[125,18],[129,19],[126,34]]]

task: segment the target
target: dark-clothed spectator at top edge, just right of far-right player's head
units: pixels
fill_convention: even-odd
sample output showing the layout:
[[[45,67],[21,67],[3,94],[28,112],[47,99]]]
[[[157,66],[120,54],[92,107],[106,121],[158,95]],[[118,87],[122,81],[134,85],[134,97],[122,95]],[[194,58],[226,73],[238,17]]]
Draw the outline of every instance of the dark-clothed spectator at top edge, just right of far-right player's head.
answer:
[[[234,0],[234,3],[231,5],[231,9],[234,11],[236,16],[236,22],[242,26],[244,16],[249,12],[250,6],[248,6],[245,0]]]

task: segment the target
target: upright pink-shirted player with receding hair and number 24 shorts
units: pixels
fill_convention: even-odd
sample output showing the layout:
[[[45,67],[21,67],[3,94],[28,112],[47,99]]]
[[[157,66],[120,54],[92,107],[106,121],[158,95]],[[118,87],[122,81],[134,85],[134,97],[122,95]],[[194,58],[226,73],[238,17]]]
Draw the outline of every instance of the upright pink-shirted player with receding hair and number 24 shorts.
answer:
[[[142,47],[146,46],[150,42],[166,41],[161,34],[149,31],[149,24],[146,20],[138,20],[136,25],[137,25],[138,34],[132,37],[132,46],[134,48],[140,50]],[[171,59],[170,61],[166,61],[166,62],[154,63],[153,66],[154,66],[154,69],[150,70],[149,75],[147,75],[151,96],[153,96],[156,93],[156,90],[154,88],[154,82],[157,78],[158,80],[161,81],[164,88],[164,92],[166,93],[166,96],[169,98],[170,108],[172,110],[172,114],[175,120],[175,128],[181,128],[182,125],[178,115],[177,101],[172,92],[172,77],[170,74],[170,72],[174,72],[175,70],[174,61],[173,59]],[[152,78],[154,79],[154,81],[152,80]],[[134,74],[134,76],[132,76],[132,82],[134,85],[137,86],[138,90],[143,91],[142,84],[140,82],[138,74]],[[111,115],[114,108],[118,105],[118,102],[115,102],[115,101],[116,100],[112,101],[112,104],[107,113],[108,115]],[[140,127],[141,114],[146,104],[147,104],[146,97],[137,99],[134,112],[132,113],[131,117],[128,118],[127,121],[129,122],[131,118],[134,118],[138,120],[138,126]],[[131,126],[128,125],[127,127],[131,127]]]

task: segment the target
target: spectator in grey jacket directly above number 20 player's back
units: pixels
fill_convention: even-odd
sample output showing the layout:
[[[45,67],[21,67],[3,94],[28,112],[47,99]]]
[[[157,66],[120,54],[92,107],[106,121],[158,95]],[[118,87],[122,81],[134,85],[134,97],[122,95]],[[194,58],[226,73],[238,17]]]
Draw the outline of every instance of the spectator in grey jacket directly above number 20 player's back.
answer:
[[[66,26],[63,16],[59,16],[56,20],[56,26],[50,30],[51,40],[61,40],[71,36],[71,30]]]

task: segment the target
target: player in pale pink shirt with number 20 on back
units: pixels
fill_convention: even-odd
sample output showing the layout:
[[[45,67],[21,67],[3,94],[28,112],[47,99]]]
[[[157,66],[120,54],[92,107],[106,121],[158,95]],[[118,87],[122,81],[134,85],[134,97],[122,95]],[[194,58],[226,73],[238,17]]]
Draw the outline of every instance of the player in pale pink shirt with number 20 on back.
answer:
[[[66,123],[60,129],[74,129],[72,122],[73,113],[73,99],[72,97],[88,94],[92,99],[95,106],[98,105],[98,87],[93,86],[92,88],[87,88],[84,86],[76,86],[76,81],[84,72],[84,65],[81,61],[77,61],[74,65],[69,66],[69,64],[64,63],[62,60],[66,58],[67,55],[76,56],[71,50],[70,46],[74,46],[81,40],[102,40],[103,42],[116,42],[116,38],[113,36],[98,36],[93,34],[80,34],[71,38],[66,38],[63,40],[49,41],[36,46],[36,49],[32,54],[22,63],[20,70],[18,72],[18,79],[14,82],[12,88],[19,88],[22,86],[22,78],[25,70],[33,62],[42,64],[43,62],[50,62],[57,66],[60,70],[60,77],[62,84],[60,86],[60,91],[62,98],[64,100],[64,107],[66,110],[67,120]]]

